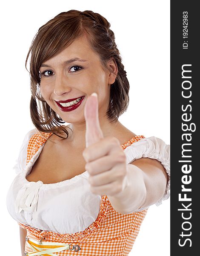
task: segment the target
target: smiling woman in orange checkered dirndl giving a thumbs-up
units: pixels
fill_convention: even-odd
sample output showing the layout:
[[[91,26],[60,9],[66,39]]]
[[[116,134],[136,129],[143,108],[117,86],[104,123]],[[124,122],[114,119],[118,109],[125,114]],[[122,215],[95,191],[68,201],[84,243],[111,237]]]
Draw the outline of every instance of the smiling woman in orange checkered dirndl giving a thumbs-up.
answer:
[[[7,194],[22,255],[128,255],[148,207],[169,197],[169,145],[118,121],[129,81],[109,27],[63,12],[29,49],[36,129]]]

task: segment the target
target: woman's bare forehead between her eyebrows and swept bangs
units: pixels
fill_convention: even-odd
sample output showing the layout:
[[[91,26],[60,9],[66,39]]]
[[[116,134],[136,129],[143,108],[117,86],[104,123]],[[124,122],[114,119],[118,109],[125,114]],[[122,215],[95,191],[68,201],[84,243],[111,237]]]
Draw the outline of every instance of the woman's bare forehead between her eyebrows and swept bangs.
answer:
[[[91,48],[89,41],[86,37],[82,36],[75,39],[68,47],[63,49],[62,52],[55,55],[43,64],[57,63],[62,64],[72,58],[80,58],[91,62],[100,62],[99,55]]]

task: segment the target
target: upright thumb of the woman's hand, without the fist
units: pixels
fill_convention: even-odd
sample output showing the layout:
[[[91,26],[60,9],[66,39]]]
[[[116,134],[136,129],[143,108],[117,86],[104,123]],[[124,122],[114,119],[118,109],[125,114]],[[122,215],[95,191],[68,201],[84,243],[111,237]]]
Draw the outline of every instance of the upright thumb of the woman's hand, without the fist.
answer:
[[[84,116],[86,120],[86,148],[103,138],[99,123],[97,93],[92,93],[85,104]]]

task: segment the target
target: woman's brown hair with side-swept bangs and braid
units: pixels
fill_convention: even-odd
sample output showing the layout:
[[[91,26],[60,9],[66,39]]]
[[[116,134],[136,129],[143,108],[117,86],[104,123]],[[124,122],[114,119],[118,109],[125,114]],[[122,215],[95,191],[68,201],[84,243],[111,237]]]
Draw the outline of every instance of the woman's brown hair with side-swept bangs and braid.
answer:
[[[64,133],[69,136],[65,123],[46,103],[40,93],[39,69],[43,62],[54,57],[69,46],[75,39],[87,36],[91,48],[100,56],[105,71],[112,72],[107,62],[113,58],[118,73],[110,91],[110,103],[106,112],[111,122],[116,122],[129,105],[129,81],[122,64],[120,52],[115,44],[115,36],[110,23],[100,14],[92,11],[70,10],[61,12],[40,27],[29,49],[26,65],[30,58],[31,79],[31,120],[40,132],[53,132],[58,137]],[[66,138],[67,138],[66,137]]]

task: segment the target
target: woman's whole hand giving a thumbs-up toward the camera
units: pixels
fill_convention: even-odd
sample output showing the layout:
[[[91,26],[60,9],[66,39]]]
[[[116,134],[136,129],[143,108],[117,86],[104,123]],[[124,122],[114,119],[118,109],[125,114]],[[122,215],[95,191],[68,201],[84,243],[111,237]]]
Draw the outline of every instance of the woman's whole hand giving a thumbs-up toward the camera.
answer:
[[[86,148],[83,157],[89,172],[91,192],[115,196],[128,184],[126,155],[116,137],[103,137],[98,115],[97,94],[92,93],[84,108]]]

